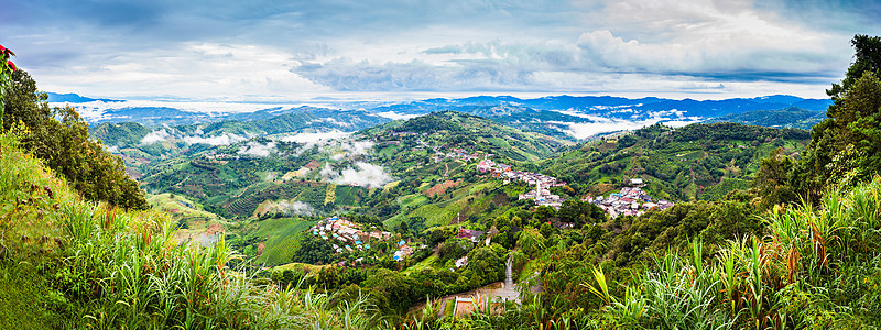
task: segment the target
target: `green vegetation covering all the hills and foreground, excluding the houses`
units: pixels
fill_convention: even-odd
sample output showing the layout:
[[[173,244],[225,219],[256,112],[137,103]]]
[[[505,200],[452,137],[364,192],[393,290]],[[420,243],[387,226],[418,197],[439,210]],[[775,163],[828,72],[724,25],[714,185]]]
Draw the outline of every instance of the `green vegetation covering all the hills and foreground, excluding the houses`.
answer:
[[[652,125],[536,162],[564,144],[435,112],[350,142],[254,139],[166,157],[145,170],[148,187],[163,191],[151,196],[153,210],[78,193],[89,186],[65,173],[107,158],[41,156],[53,143],[41,130],[104,148],[81,140],[75,111],[50,110],[35,89],[19,87],[7,99],[18,105],[7,112],[17,123],[0,133],[0,327],[874,329],[881,41],[858,35],[853,45],[857,59],[811,136],[736,123]],[[240,153],[270,143],[271,157]],[[439,152],[453,156],[432,160]],[[529,187],[478,176],[480,157],[566,180],[552,188],[566,201],[518,200]],[[367,162],[394,180],[356,187],[326,176]],[[635,177],[676,205],[609,219],[580,201]],[[391,238],[337,252],[307,231],[327,215]],[[194,227],[224,230],[199,246],[181,239]],[[410,255],[393,260],[403,245]],[[454,316],[448,295],[498,287],[509,267],[519,304],[483,299]]]

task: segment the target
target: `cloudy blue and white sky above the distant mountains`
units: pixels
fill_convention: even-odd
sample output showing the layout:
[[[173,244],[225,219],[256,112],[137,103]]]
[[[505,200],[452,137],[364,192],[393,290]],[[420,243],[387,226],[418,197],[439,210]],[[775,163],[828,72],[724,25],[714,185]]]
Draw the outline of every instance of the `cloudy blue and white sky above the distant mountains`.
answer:
[[[0,2],[41,89],[111,98],[824,98],[881,34],[874,0]]]

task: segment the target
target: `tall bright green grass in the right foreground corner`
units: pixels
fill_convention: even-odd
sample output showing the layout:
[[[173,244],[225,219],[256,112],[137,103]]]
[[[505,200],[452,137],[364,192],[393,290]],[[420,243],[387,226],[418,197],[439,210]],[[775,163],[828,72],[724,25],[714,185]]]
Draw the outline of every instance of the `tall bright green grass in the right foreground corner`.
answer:
[[[728,241],[705,258],[690,242],[608,293],[585,285],[619,327],[640,329],[866,329],[881,326],[881,177],[761,217],[764,237]],[[592,282],[597,283],[596,285]]]

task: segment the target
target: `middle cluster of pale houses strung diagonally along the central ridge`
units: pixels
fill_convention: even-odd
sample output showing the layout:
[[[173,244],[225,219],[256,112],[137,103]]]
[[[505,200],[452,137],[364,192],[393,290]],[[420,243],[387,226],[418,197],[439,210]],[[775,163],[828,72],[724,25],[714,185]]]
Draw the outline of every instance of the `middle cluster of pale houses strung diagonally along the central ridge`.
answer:
[[[566,185],[566,183],[558,183],[557,178],[553,176],[532,172],[513,170],[511,165],[498,164],[490,160],[480,161],[480,163],[477,164],[477,170],[480,173],[487,173],[496,178],[504,179],[505,182],[521,180],[531,186],[535,185],[535,190],[530,190],[526,194],[520,194],[518,196],[519,199],[532,199],[535,200],[535,205],[537,206],[550,206],[557,209],[563,206],[563,198],[551,194],[550,188],[561,187]]]

